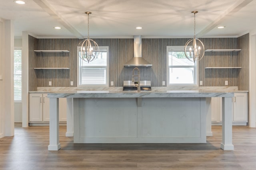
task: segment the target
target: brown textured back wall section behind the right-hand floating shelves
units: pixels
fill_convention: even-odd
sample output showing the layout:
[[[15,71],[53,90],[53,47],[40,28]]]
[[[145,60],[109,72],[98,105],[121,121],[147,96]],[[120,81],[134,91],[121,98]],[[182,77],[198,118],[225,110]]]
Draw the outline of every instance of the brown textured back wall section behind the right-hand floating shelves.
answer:
[[[205,49],[237,49],[237,38],[202,38]],[[238,69],[216,69],[205,67],[239,66],[238,52],[205,52],[204,58],[199,61],[199,80],[203,86],[238,86]]]

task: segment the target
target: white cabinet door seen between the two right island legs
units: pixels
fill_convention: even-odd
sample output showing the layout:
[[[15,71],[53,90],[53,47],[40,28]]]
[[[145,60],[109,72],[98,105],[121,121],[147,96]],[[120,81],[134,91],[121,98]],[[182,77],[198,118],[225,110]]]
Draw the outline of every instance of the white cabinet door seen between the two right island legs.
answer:
[[[222,98],[211,99],[212,122],[222,121]]]

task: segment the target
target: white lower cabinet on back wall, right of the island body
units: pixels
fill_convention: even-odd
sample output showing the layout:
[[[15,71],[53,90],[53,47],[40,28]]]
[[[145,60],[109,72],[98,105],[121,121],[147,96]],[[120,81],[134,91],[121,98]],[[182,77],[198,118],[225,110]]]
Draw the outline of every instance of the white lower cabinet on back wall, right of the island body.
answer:
[[[248,122],[247,92],[234,93],[232,99],[233,125],[247,125]],[[222,98],[211,99],[212,125],[222,124]]]

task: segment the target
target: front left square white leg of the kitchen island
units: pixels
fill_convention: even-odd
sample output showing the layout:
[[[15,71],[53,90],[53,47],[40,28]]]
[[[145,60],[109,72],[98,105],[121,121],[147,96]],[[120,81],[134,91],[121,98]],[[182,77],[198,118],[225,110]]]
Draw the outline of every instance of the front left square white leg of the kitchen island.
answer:
[[[48,150],[59,149],[59,98],[50,98],[50,145],[48,145]]]

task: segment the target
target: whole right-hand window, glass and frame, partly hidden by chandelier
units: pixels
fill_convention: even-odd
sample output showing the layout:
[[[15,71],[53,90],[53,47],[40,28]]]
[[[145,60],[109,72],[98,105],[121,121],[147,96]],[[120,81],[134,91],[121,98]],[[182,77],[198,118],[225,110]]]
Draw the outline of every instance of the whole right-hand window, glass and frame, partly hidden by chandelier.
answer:
[[[197,62],[189,61],[183,46],[167,46],[168,86],[197,86]]]

